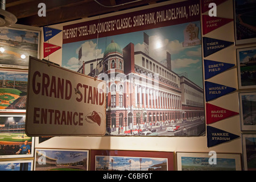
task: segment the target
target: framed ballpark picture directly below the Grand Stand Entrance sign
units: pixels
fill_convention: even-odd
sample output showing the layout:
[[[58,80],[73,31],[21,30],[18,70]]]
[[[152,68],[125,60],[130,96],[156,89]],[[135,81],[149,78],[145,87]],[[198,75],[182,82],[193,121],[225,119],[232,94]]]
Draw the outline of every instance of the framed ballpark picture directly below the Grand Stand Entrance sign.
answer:
[[[35,171],[88,171],[89,150],[35,149]]]

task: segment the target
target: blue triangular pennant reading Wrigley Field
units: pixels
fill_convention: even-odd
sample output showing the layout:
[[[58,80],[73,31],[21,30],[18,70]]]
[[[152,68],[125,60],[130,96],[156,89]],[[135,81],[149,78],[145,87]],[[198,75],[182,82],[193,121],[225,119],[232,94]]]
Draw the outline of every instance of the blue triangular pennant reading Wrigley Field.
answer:
[[[228,94],[236,90],[236,88],[215,84],[209,81],[205,81],[204,83],[205,83],[205,100],[207,102],[215,98],[224,96],[225,94]]]

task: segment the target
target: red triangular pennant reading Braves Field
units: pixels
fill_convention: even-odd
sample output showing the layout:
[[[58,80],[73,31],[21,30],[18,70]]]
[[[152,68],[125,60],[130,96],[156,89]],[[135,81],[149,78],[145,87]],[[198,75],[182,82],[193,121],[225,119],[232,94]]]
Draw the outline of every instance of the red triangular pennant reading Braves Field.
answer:
[[[206,104],[206,110],[207,110],[207,125],[210,123],[214,123],[217,121],[221,121],[222,119],[232,117],[233,115],[237,115],[239,113],[224,109],[222,107],[218,107],[212,104],[207,103]]]

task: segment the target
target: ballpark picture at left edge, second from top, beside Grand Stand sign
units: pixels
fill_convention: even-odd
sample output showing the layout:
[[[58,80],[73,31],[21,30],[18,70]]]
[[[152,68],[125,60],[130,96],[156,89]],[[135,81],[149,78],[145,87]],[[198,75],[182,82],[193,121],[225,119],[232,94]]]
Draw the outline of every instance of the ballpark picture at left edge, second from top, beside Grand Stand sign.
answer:
[[[27,71],[0,70],[0,111],[25,110]]]

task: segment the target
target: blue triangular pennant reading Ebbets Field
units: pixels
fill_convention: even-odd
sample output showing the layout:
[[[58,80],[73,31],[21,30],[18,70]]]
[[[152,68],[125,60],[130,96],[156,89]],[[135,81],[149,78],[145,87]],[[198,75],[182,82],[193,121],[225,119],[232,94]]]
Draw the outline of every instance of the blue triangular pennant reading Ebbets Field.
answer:
[[[222,63],[219,61],[204,60],[205,80],[207,80],[215,75],[218,75],[232,67],[234,67],[234,64]]]

